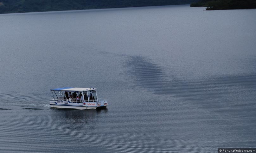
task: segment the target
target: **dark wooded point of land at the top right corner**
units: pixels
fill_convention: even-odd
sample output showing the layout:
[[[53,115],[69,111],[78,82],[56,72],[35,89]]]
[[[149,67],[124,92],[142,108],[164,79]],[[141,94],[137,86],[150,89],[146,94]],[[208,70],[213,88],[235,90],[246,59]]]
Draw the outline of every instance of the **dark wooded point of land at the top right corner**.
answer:
[[[200,0],[191,3],[190,7],[207,7],[206,10],[256,9],[256,0]]]

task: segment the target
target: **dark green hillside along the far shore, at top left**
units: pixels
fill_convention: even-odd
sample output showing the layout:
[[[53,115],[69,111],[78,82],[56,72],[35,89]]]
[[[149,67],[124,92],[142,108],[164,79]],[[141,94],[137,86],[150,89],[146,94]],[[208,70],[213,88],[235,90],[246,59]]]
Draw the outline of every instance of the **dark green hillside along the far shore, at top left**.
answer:
[[[189,4],[197,0],[0,0],[0,13]]]

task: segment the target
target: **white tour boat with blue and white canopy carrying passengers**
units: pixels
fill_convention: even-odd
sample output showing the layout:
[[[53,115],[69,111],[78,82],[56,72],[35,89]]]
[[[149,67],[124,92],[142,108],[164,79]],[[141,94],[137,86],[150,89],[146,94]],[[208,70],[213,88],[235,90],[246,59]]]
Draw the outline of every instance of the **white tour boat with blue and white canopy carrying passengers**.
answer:
[[[50,100],[50,106],[54,108],[69,109],[96,109],[106,108],[107,99],[97,96],[95,88],[56,88],[50,89],[54,99]]]

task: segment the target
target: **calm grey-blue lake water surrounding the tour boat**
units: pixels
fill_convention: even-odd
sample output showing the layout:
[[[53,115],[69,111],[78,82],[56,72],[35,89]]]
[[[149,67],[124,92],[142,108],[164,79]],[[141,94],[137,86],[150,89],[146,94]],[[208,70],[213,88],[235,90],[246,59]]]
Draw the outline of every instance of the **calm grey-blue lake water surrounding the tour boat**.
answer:
[[[256,144],[256,9],[0,15],[0,152],[217,152]],[[97,88],[104,110],[51,109]]]

